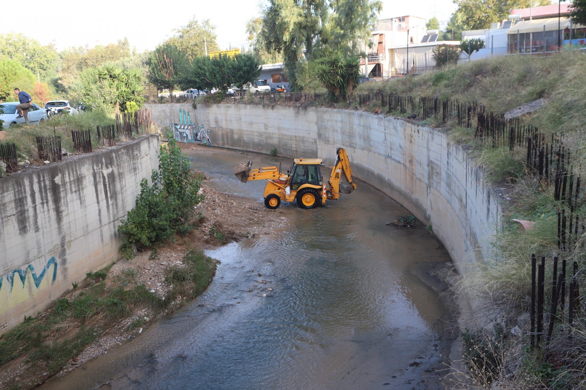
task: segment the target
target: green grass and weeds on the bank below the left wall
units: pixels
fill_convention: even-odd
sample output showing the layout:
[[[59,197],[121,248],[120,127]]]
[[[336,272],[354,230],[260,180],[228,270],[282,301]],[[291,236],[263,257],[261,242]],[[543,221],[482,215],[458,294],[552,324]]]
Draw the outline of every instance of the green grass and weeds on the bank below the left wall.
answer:
[[[25,379],[13,388],[33,388],[57,374],[104,331],[111,330],[138,309],[147,308],[155,316],[172,312],[185,303],[185,300],[178,302],[177,297],[193,299],[200,295],[216,272],[216,261],[200,251],[187,252],[183,262],[184,266],[165,269],[165,282],[173,286],[166,299],[137,283],[135,276],[139,271],[133,268],[109,275],[110,265],[88,273],[79,288],[74,284],[77,293],[71,299],[55,300],[40,316],[27,317],[0,336],[0,373],[21,358],[19,370]],[[136,320],[127,331],[143,325],[142,320]],[[41,375],[43,372],[46,375]]]

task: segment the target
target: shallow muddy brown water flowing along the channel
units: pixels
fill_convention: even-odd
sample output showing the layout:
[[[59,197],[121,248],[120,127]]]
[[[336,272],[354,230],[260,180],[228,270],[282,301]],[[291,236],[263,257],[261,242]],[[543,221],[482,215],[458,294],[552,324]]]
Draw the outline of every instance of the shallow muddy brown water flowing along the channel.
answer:
[[[264,182],[240,183],[233,167],[290,163],[223,149],[189,155],[210,185],[259,207]],[[443,389],[449,314],[414,269],[449,256],[421,224],[385,225],[408,211],[357,184],[314,210],[282,203],[275,216],[286,228],[207,251],[221,263],[203,295],[40,388]]]

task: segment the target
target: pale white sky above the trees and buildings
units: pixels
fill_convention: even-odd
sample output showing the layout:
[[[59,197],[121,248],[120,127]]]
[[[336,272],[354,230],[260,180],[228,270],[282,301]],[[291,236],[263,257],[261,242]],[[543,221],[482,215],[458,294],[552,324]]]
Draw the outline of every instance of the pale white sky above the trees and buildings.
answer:
[[[198,20],[210,19],[216,26],[220,49],[227,49],[230,45],[247,46],[246,21],[260,15],[262,4],[263,0],[100,0],[50,6],[46,0],[28,0],[26,9],[38,12],[26,12],[25,16],[13,13],[3,18],[0,34],[23,33],[43,45],[53,43],[57,50],[108,45],[128,37],[130,45],[143,52],[155,49],[173,35],[173,29],[186,25],[195,16]],[[443,27],[454,9],[451,0],[383,0],[380,18],[436,16]]]

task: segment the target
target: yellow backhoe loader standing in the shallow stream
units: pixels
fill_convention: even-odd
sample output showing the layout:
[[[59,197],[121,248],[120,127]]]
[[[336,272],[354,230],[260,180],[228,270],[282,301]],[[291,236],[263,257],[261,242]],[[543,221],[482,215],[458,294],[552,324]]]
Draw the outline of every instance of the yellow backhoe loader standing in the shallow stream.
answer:
[[[323,182],[323,176],[321,176],[320,167],[323,166],[321,159],[295,159],[287,173],[282,173],[281,168],[277,166],[251,170],[252,161],[249,161],[248,164],[240,163],[234,168],[234,175],[243,183],[248,180],[267,180],[263,197],[264,204],[268,208],[279,207],[281,200],[287,202],[297,200],[301,208],[314,208],[319,204],[325,204],[326,200],[340,199],[341,192],[349,194],[356,189],[356,184],[352,181],[352,169],[350,169],[346,150],[338,148],[337,153],[336,163],[327,183]],[[342,173],[350,187],[340,183]]]

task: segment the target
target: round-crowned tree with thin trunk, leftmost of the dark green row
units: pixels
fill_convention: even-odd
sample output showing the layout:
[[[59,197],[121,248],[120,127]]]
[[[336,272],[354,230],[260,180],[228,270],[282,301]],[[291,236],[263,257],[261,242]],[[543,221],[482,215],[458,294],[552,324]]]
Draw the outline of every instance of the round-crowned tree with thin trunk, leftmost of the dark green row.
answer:
[[[173,101],[173,88],[182,83],[188,62],[179,48],[171,43],[157,47],[148,61],[148,80],[159,89],[168,88]]]

